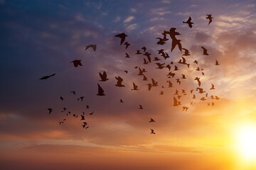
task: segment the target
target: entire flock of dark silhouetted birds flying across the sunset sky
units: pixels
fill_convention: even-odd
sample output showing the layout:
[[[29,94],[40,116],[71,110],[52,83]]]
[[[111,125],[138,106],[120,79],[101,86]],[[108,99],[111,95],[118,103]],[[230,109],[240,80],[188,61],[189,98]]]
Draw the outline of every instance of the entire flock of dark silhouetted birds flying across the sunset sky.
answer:
[[[213,21],[213,17],[208,14],[206,19],[209,20],[208,25]],[[189,28],[193,27],[193,23],[191,22],[192,18],[189,17],[187,21],[183,21],[183,23],[187,23]],[[164,30],[163,33],[161,33],[163,35],[163,37],[161,38],[156,38],[158,41],[156,42],[156,45],[164,45],[166,44],[166,42],[169,40],[169,38],[171,38],[171,52],[173,52],[173,50],[178,47],[178,50],[180,50],[181,52],[181,59],[175,63],[174,61],[169,62],[168,64],[164,63],[160,63],[159,61],[161,60],[165,60],[167,61],[167,59],[170,58],[168,52],[166,52],[166,50],[164,49],[160,49],[157,50],[158,52],[158,56],[154,57],[154,59],[151,58],[151,53],[149,53],[147,51],[146,47],[142,47],[141,49],[137,50],[134,54],[135,55],[142,55],[143,58],[143,64],[149,64],[152,63],[154,61],[154,64],[156,64],[156,69],[167,69],[168,70],[168,74],[166,75],[166,83],[168,84],[167,88],[174,88],[175,84],[173,83],[173,81],[176,81],[176,84],[181,85],[181,82],[184,79],[187,79],[185,74],[179,74],[180,69],[178,68],[178,64],[183,64],[186,66],[186,68],[191,68],[196,66],[196,69],[193,69],[196,72],[201,72],[201,75],[204,76],[204,72],[203,72],[203,68],[198,67],[198,60],[194,60],[193,63],[188,63],[186,60],[186,57],[191,55],[189,50],[182,47],[181,45],[181,40],[178,40],[176,38],[177,35],[181,35],[180,33],[176,32],[176,28],[171,28],[170,30]],[[117,35],[114,35],[116,38],[120,39],[120,45],[124,45],[125,49],[127,49],[130,45],[130,43],[128,41],[126,41],[127,35],[125,33],[119,33]],[[208,50],[206,49],[206,47],[201,46],[202,48],[202,55],[209,55]],[[92,49],[94,52],[97,50],[97,45],[87,45],[85,46],[85,50],[88,49]],[[127,52],[125,52],[125,58],[130,58],[130,54],[128,54]],[[161,59],[162,57],[162,59]],[[72,62],[74,67],[82,67],[82,62],[81,60],[73,60]],[[213,65],[220,65],[220,63],[215,60],[215,64]],[[139,73],[137,74],[139,77],[143,77],[142,81],[147,81],[149,82],[148,84],[146,84],[148,86],[148,91],[151,91],[152,88],[155,88],[156,86],[159,86],[158,81],[156,81],[155,79],[151,78],[148,79],[148,77],[146,77],[146,69],[141,68],[141,67],[134,67],[134,69],[138,69]],[[128,74],[127,70],[124,70],[124,72],[126,74]],[[41,77],[41,79],[49,79],[50,77],[54,77],[55,74],[50,74],[48,76],[44,76]],[[102,82],[108,81],[109,79],[107,78],[107,72],[103,71],[103,72],[99,72],[99,76],[100,76],[100,80]],[[175,78],[174,78],[175,77]],[[115,86],[117,87],[125,87],[123,84],[123,79],[122,77],[115,77],[117,83],[115,84]],[[215,102],[213,100],[219,100],[220,98],[218,96],[215,95],[208,95],[208,91],[206,91],[205,89],[202,88],[201,86],[201,77],[195,77],[194,80],[197,83],[197,87],[196,89],[178,89],[176,86],[176,90],[174,93],[174,102],[172,106],[182,106],[182,111],[188,111],[188,106],[183,106],[181,104],[181,98],[183,96],[188,96],[188,94],[191,95],[191,103],[190,105],[193,105],[193,100],[195,100],[197,98],[198,95],[201,95],[199,98],[200,101],[206,101],[206,100],[212,100],[210,102],[207,103],[207,106],[215,106]],[[102,89],[102,86],[100,86],[100,84],[97,84],[98,87],[98,91],[97,91],[97,96],[105,96],[105,91],[104,89]],[[136,83],[133,82],[132,84],[132,91],[138,91],[139,87]],[[162,85],[161,86],[161,91],[159,92],[159,95],[164,95],[164,88],[166,88],[166,86]],[[209,87],[208,90],[213,91],[215,89],[214,84],[211,84],[211,86]],[[197,92],[197,93],[195,93]],[[70,91],[70,94],[76,95],[75,91]],[[77,97],[77,101],[83,101],[85,97],[84,96],[79,96]],[[60,101],[63,101],[64,98],[63,96],[60,96]],[[124,103],[124,101],[122,100],[122,98],[120,99],[119,103]],[[86,106],[86,108],[90,108],[89,106]],[[142,105],[139,105],[139,109],[144,109]],[[48,108],[48,113],[52,113],[53,112],[53,108]],[[73,115],[74,118],[78,118],[80,117],[80,120],[82,121],[82,128],[89,128],[89,125],[87,124],[87,122],[85,121],[85,112],[82,111],[82,114],[78,115],[78,114],[73,114],[70,111],[67,110],[67,108],[63,108],[63,111],[61,111],[62,113],[65,113],[66,116],[68,115]],[[89,113],[89,115],[92,115],[93,111],[91,113]],[[63,120],[60,120],[59,124],[63,124],[65,122],[66,118],[64,118]],[[155,123],[156,121],[153,118],[150,118],[149,123]],[[154,129],[150,129],[151,130],[151,134],[155,134]]]

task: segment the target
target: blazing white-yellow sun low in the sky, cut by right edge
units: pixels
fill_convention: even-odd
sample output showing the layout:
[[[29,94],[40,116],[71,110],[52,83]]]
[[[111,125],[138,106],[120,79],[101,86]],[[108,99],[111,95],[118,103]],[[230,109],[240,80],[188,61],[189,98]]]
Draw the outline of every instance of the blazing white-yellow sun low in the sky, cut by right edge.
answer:
[[[244,161],[256,160],[256,125],[242,125],[236,134],[238,154]]]

